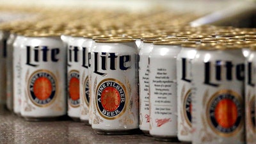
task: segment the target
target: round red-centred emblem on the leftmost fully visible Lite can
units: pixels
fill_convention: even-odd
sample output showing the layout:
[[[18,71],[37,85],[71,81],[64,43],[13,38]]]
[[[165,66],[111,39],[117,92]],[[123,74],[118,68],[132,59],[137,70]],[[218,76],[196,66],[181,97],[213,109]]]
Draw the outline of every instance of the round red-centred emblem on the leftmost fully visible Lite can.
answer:
[[[56,87],[56,79],[51,72],[38,70],[29,77],[29,99],[36,106],[48,106],[56,97]]]

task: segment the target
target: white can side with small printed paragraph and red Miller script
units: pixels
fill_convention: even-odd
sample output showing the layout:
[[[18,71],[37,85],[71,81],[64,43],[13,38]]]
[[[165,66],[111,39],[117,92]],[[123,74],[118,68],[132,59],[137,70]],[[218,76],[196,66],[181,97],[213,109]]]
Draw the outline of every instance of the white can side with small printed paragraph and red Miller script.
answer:
[[[149,67],[150,134],[177,136],[176,63],[168,59],[150,58]]]

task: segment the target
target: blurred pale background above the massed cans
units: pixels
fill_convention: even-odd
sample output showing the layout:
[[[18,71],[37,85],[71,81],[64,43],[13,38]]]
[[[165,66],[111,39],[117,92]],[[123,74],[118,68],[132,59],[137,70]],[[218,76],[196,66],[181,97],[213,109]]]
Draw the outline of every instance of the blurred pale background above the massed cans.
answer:
[[[255,28],[256,1],[249,0],[1,0],[1,21],[19,19],[26,13],[15,12],[15,8],[59,8],[116,10],[147,13],[152,10],[195,13],[200,17],[191,20],[192,26],[214,24]],[[4,11],[5,10],[5,11]]]

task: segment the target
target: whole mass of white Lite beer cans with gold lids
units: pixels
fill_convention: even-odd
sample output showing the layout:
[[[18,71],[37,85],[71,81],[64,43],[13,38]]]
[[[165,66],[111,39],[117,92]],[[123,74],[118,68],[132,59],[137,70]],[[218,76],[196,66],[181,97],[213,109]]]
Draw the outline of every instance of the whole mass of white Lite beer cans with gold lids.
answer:
[[[255,29],[31,27],[1,28],[0,102],[26,120],[68,115],[100,134],[254,143]]]

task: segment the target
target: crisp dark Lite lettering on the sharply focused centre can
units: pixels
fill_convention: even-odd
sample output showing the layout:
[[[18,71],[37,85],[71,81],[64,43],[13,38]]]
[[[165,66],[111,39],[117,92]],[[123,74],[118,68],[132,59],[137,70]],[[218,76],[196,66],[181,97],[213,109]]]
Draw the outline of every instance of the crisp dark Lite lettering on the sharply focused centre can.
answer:
[[[116,56],[115,52],[94,52],[94,64],[93,72],[105,76],[106,70],[128,70],[131,68],[131,56]],[[100,65],[101,67],[99,67]]]

